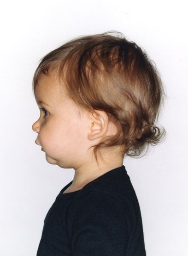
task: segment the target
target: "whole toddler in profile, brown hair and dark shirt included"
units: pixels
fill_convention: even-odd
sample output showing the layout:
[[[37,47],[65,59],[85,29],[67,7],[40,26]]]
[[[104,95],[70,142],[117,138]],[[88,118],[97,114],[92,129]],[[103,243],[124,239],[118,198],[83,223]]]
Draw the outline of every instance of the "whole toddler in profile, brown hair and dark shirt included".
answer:
[[[146,255],[123,158],[164,137],[154,122],[165,92],[147,54],[111,32],[70,40],[35,71],[35,143],[47,162],[75,170],[47,212],[37,256]]]

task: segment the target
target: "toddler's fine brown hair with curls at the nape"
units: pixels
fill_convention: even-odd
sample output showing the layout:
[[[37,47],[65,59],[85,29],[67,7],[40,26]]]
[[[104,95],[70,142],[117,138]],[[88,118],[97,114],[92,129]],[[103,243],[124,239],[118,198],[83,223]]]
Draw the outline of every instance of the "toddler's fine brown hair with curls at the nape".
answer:
[[[113,32],[117,36],[110,35]],[[165,136],[164,127],[154,124],[166,95],[159,72],[146,51],[121,32],[73,38],[40,61],[34,90],[41,73],[57,69],[67,96],[80,109],[103,110],[116,124],[116,135],[93,146],[96,160],[100,148],[116,145],[123,149],[122,156],[139,156]]]

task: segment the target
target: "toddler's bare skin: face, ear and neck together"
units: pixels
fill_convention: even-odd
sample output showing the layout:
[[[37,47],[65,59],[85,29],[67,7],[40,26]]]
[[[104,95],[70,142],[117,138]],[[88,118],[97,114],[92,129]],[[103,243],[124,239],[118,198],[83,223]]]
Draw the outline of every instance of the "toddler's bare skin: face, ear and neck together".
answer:
[[[123,157],[118,155],[118,146],[111,147],[101,151],[105,162],[99,158],[97,164],[94,154],[92,156],[94,148],[89,147],[115,134],[116,127],[104,111],[81,111],[65,96],[62,88],[55,71],[50,76],[41,75],[35,88],[35,100],[39,108],[46,111],[40,110],[40,117],[32,129],[37,133],[35,143],[42,147],[47,162],[75,170],[73,182],[64,192],[68,193],[122,166]]]

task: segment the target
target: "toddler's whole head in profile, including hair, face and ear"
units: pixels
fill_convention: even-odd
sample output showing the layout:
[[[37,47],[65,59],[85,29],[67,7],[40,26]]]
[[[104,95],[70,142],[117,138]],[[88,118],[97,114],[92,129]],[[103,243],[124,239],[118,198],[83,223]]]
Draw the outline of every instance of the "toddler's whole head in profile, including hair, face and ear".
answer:
[[[157,69],[137,44],[111,32],[70,40],[35,71],[41,115],[32,128],[52,164],[123,162],[165,135],[155,124],[165,100]]]

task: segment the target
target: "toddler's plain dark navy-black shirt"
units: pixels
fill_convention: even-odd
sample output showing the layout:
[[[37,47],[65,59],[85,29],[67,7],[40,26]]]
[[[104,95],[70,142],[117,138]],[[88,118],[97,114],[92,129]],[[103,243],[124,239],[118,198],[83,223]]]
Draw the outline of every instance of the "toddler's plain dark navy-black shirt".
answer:
[[[140,206],[125,166],[58,194],[37,256],[146,256]]]

